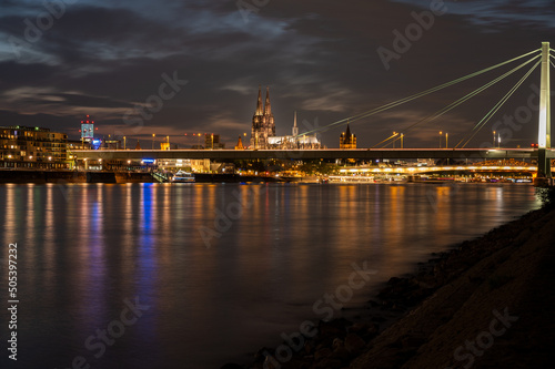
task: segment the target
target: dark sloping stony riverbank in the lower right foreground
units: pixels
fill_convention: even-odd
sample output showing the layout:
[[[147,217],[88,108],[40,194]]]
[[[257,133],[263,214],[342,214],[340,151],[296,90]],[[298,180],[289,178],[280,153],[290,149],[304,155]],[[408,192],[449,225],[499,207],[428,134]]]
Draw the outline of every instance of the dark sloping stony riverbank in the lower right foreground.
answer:
[[[264,348],[249,368],[543,367],[554,239],[555,212],[531,212],[392,278],[355,319],[320,321],[292,357]]]

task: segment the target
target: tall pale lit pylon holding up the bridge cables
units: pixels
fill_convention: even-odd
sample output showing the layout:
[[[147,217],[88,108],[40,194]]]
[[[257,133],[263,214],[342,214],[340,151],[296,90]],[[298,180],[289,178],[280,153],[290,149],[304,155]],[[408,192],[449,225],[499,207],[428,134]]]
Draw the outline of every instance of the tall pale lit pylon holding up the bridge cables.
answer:
[[[537,133],[537,184],[541,185],[552,177],[551,158],[547,148],[551,142],[551,104],[549,104],[549,42],[542,42],[542,76],[539,85],[539,125]],[[542,183],[539,183],[542,182]]]

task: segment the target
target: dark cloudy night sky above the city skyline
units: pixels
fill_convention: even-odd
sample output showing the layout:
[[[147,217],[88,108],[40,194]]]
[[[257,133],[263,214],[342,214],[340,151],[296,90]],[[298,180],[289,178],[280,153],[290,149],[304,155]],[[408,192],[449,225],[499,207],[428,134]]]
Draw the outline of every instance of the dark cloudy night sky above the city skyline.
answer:
[[[155,133],[183,147],[193,132],[219,133],[228,146],[250,134],[259,85],[271,89],[276,133],[289,134],[294,111],[301,132],[324,127],[555,45],[551,0],[2,0],[0,17],[0,125],[77,139],[90,114],[99,135],[150,143]],[[532,57],[352,122],[359,146],[393,131],[406,131],[412,147],[436,147],[448,132],[452,146],[534,62],[408,126]],[[538,84],[536,69],[470,145],[491,144],[494,127],[503,144],[535,142]],[[342,130],[319,136],[336,147]]]

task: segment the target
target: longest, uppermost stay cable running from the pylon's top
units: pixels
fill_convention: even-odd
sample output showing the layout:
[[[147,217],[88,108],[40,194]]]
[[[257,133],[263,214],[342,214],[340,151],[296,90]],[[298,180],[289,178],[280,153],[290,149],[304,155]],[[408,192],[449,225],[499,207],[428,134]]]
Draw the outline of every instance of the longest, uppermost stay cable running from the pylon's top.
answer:
[[[511,60],[507,60],[507,61],[504,61],[502,63],[498,63],[498,64],[495,64],[495,65],[492,65],[492,66],[488,66],[488,68],[485,68],[483,70],[480,70],[477,72],[474,72],[474,73],[471,73],[471,74],[467,74],[465,76],[462,76],[462,78],[458,78],[456,80],[453,80],[453,81],[450,81],[450,82],[446,82],[446,83],[443,83],[438,86],[435,86],[435,88],[432,88],[432,89],[428,89],[428,90],[425,90],[425,91],[422,91],[422,92],[418,92],[418,93],[415,93],[413,95],[410,95],[407,98],[403,98],[403,99],[400,99],[397,101],[393,101],[391,103],[387,103],[385,105],[382,105],[382,106],[379,106],[379,107],[375,107],[373,110],[370,110],[370,111],[366,111],[364,113],[360,113],[360,114],[356,114],[356,115],[353,115],[353,116],[350,116],[350,117],[345,117],[345,119],[342,119],[342,120],[339,120],[336,122],[333,122],[333,123],[330,123],[327,125],[324,125],[322,127],[317,127],[317,129],[314,129],[314,130],[311,130],[311,131],[307,131],[307,132],[304,132],[302,134],[299,134],[299,136],[304,136],[304,135],[309,135],[309,134],[312,134],[312,133],[316,133],[316,132],[321,132],[321,131],[327,131],[330,130],[332,126],[334,125],[344,125],[346,123],[350,123],[350,122],[354,122],[354,121],[359,121],[361,119],[365,119],[365,117],[369,117],[371,115],[374,115],[374,114],[377,114],[377,113],[381,113],[383,111],[386,111],[386,110],[390,110],[392,107],[395,107],[395,106],[398,106],[401,104],[404,104],[406,102],[410,102],[410,101],[413,101],[415,99],[418,99],[418,98],[422,98],[422,96],[425,96],[427,94],[431,94],[433,92],[436,92],[436,91],[440,91],[440,90],[443,90],[445,88],[448,88],[451,85],[454,85],[456,83],[461,83],[463,81],[466,81],[466,80],[470,80],[474,76],[477,76],[480,74],[483,74],[483,73],[486,73],[488,71],[492,71],[494,69],[497,69],[500,66],[503,66],[503,65],[506,65],[508,63],[512,63],[518,59],[522,59],[522,58],[525,58],[525,57],[528,57],[531,54],[534,54],[534,53],[537,53],[539,51],[539,49],[536,49],[534,51],[531,51],[531,52],[527,52],[525,54],[522,54],[519,57],[516,57],[516,58],[513,58]]]

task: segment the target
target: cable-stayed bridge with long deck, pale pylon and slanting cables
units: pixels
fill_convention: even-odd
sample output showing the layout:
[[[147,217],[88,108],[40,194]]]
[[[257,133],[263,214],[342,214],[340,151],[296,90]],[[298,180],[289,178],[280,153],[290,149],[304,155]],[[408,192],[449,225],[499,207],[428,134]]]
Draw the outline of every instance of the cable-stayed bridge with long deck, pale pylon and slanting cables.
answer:
[[[543,42],[541,49],[533,50],[525,54],[509,59],[502,63],[485,68],[477,72],[467,74],[465,76],[455,79],[451,82],[437,85],[435,88],[418,92],[411,96],[390,102],[382,106],[372,109],[370,111],[342,119],[340,121],[330,123],[327,125],[301,133],[297,137],[315,134],[319,132],[329,131],[350,122],[356,122],[369,116],[382,113],[384,111],[394,109],[407,102],[415,101],[428,94],[451,88],[463,81],[471,80],[486,72],[496,70],[505,65],[517,63],[507,72],[483,84],[478,89],[467,93],[466,95],[453,101],[441,110],[430,114],[428,116],[410,124],[404,127],[402,132],[406,133],[415,130],[426,123],[433,122],[437,117],[446,114],[453,109],[460,106],[466,101],[475,98],[481,92],[490,89],[498,82],[506,79],[508,75],[524,71],[519,80],[503,95],[494,106],[470,130],[464,137],[452,148],[386,148],[387,145],[394,144],[396,141],[403,140],[403,134],[394,133],[393,135],[382,140],[370,148],[355,148],[355,150],[134,150],[134,151],[74,151],[72,154],[77,160],[179,160],[179,158],[210,158],[210,160],[265,160],[265,158],[291,158],[291,160],[333,160],[333,158],[355,158],[355,160],[407,160],[407,158],[432,158],[432,160],[495,160],[495,158],[516,158],[516,160],[535,160],[537,161],[537,176],[539,178],[551,178],[551,160],[555,158],[555,153],[551,148],[551,95],[549,95],[549,68],[555,66],[555,50],[549,48],[548,42]],[[491,119],[505,105],[511,96],[518,90],[518,88],[526,81],[534,70],[541,68],[541,86],[539,86],[539,114],[538,114],[538,140],[537,148],[468,148],[472,140],[476,134],[491,121]]]

